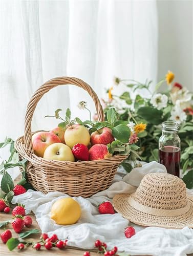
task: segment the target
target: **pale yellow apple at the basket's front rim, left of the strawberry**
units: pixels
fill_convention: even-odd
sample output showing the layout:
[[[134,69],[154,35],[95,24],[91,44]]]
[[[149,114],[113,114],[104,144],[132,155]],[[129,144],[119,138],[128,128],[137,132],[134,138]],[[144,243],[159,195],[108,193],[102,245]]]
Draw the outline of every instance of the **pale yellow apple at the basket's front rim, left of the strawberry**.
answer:
[[[44,152],[44,158],[59,161],[75,161],[70,147],[63,143],[54,143],[48,146]]]

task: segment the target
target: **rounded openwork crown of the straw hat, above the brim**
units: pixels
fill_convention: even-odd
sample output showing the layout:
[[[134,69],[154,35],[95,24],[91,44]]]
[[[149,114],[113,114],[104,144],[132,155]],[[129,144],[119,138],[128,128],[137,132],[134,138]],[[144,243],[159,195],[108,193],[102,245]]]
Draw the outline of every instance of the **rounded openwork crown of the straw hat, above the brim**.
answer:
[[[180,209],[186,206],[186,185],[177,176],[151,173],[144,176],[133,199],[155,209]]]

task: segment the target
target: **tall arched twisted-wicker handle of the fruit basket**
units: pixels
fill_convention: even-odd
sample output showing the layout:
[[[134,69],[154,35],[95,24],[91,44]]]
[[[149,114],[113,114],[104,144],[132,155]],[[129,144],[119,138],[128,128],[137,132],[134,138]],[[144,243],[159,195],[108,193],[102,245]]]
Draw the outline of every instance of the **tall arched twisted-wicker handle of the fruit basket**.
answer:
[[[32,98],[28,103],[26,116],[25,116],[24,143],[29,150],[32,149],[31,122],[32,122],[33,113],[35,111],[38,101],[41,99],[41,97],[45,93],[49,92],[52,88],[61,86],[63,84],[73,84],[87,91],[95,103],[96,111],[98,114],[98,121],[101,122],[104,120],[104,114],[103,114],[103,110],[102,110],[102,106],[100,104],[99,98],[96,95],[96,93],[93,91],[93,89],[89,86],[88,83],[75,77],[53,78],[45,82],[42,86],[40,86],[40,88],[34,93],[34,95],[32,96]]]

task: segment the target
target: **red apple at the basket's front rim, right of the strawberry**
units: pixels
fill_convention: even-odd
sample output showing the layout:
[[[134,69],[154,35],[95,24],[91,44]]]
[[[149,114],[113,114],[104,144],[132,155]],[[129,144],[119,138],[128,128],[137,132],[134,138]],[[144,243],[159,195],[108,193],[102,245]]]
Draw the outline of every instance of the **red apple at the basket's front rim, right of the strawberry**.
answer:
[[[95,144],[89,150],[89,160],[101,160],[104,158],[112,157],[109,153],[108,147],[104,144]]]

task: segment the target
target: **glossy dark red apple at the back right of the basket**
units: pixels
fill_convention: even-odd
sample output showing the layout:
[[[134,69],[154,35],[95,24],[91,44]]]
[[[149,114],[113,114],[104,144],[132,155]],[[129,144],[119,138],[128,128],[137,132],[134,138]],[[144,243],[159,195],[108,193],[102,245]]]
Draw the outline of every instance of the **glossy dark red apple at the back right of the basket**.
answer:
[[[98,131],[91,134],[91,145],[104,144],[107,145],[113,142],[115,138],[112,135],[111,129],[104,127]]]

